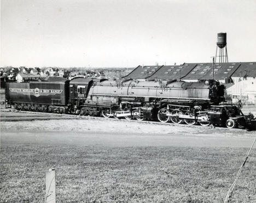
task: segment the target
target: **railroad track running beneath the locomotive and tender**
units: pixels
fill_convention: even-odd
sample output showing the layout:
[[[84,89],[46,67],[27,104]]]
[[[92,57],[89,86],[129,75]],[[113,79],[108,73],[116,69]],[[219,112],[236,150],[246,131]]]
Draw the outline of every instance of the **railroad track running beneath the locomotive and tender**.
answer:
[[[1,111],[5,112],[14,112],[14,109],[1,109]],[[20,113],[26,113],[26,114],[36,114],[36,115],[49,115],[49,116],[58,116],[58,117],[73,117],[74,119],[84,119],[84,120],[97,120],[97,121],[118,121],[118,122],[136,122],[136,123],[148,123],[148,124],[156,124],[156,125],[162,125],[162,126],[181,126],[181,127],[187,127],[187,128],[212,128],[211,126],[200,126],[200,125],[193,125],[189,126],[188,124],[176,124],[176,123],[161,123],[158,121],[138,121],[138,120],[126,120],[126,119],[118,119],[118,118],[104,118],[104,117],[94,117],[94,116],[80,116],[80,115],[72,115],[72,114],[56,114],[56,113],[49,113],[49,112],[37,112],[37,111],[18,111]],[[54,117],[53,117],[54,120]],[[217,129],[222,129],[222,130],[243,130],[240,128],[224,128],[224,127],[217,127]]]

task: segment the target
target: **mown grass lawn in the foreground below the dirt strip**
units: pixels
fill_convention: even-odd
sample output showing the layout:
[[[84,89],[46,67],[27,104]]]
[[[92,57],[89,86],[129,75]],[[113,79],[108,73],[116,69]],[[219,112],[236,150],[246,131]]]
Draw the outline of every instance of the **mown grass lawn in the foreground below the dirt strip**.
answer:
[[[2,145],[1,202],[43,202],[56,166],[57,202],[223,202],[248,148]],[[256,150],[232,202],[256,201]]]

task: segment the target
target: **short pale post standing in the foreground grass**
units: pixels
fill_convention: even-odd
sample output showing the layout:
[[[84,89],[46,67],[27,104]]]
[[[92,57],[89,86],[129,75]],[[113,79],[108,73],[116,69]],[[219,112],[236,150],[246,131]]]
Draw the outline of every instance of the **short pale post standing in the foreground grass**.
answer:
[[[46,186],[46,203],[56,203],[56,180],[55,180],[55,169],[49,169],[45,175],[45,186]]]

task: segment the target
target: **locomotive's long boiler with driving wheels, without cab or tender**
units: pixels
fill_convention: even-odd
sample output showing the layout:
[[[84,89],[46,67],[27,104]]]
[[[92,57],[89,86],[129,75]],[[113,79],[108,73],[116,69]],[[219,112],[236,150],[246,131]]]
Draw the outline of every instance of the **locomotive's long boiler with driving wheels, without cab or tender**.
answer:
[[[210,124],[204,110],[224,99],[219,83],[185,81],[103,81],[92,85],[85,105],[97,106],[104,117],[195,123],[195,106],[202,114],[197,120]],[[97,112],[95,112],[96,114]]]

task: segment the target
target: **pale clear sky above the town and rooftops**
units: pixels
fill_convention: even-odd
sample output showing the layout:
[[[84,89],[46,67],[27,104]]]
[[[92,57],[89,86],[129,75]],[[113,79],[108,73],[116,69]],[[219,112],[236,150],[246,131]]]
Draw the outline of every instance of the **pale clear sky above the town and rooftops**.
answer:
[[[1,0],[1,66],[136,67],[256,61],[256,1]]]

